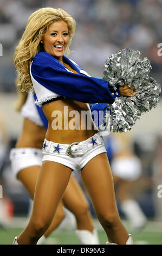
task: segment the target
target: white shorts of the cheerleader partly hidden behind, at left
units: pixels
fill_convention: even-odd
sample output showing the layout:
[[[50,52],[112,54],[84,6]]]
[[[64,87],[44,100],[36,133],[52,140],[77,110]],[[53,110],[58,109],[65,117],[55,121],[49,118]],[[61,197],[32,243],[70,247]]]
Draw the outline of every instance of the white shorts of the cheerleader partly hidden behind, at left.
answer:
[[[17,148],[11,149],[10,161],[11,169],[17,177],[18,172],[31,166],[41,166],[42,149],[35,148]]]

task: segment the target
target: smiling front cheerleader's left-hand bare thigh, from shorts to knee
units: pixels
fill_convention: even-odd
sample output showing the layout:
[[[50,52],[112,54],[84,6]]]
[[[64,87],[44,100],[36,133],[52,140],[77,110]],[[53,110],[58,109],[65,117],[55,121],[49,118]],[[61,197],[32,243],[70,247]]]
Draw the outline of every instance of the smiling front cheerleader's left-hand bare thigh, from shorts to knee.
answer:
[[[62,200],[71,172],[70,168],[57,162],[42,163],[35,188],[32,216],[52,220]]]

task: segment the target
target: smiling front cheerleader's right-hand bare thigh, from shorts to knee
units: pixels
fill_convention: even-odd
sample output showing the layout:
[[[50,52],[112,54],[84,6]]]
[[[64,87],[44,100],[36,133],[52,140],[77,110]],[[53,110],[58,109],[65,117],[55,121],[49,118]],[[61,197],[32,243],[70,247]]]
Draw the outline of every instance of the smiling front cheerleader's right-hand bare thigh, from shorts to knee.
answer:
[[[97,215],[118,215],[111,167],[106,153],[90,160],[81,172]]]

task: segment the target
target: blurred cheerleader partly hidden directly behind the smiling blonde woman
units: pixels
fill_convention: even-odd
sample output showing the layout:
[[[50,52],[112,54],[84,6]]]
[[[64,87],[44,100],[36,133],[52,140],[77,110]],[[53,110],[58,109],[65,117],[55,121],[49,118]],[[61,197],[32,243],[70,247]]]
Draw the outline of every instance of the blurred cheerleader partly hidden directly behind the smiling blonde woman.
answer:
[[[37,176],[42,164],[42,146],[48,123],[42,109],[37,108],[34,104],[32,93],[18,92],[18,95],[15,107],[17,111],[21,111],[24,121],[16,146],[10,151],[11,168],[15,177],[22,182],[33,199]],[[78,182],[74,176],[71,176],[62,203],[60,203],[50,227],[38,240],[37,245],[43,243],[63,220],[63,205],[73,212],[76,218],[75,233],[80,243],[83,245],[99,244],[98,234],[88,209],[88,202]]]

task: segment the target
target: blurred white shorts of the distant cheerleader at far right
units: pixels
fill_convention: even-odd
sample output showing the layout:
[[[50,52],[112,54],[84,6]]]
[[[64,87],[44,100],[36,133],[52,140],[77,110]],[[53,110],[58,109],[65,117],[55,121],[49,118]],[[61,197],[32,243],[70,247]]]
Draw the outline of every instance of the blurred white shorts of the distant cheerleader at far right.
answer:
[[[111,163],[113,175],[124,180],[137,180],[141,176],[141,162],[136,156],[115,157]]]

